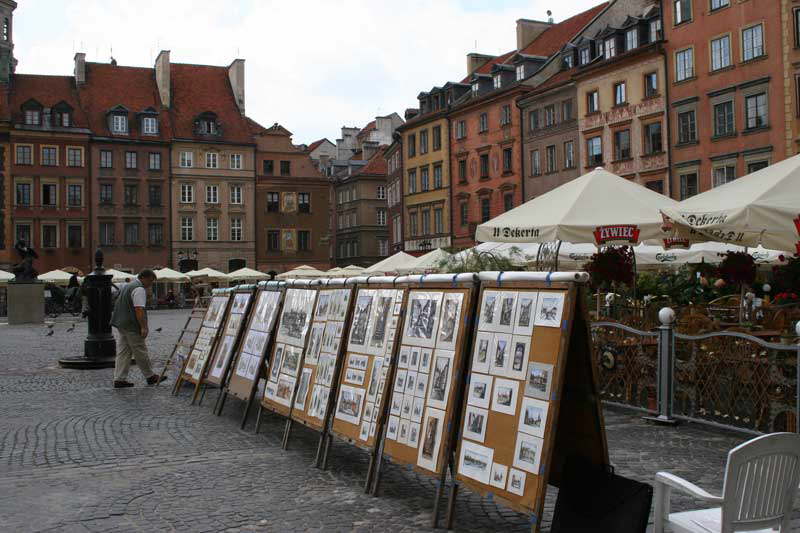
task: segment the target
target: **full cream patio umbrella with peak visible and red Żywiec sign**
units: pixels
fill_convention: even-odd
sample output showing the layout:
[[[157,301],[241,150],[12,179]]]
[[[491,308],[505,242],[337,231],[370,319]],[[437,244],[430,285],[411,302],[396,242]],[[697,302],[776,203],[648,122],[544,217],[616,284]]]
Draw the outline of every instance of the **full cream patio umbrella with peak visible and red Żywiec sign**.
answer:
[[[663,237],[660,210],[677,202],[602,168],[478,226],[475,240],[637,244]]]

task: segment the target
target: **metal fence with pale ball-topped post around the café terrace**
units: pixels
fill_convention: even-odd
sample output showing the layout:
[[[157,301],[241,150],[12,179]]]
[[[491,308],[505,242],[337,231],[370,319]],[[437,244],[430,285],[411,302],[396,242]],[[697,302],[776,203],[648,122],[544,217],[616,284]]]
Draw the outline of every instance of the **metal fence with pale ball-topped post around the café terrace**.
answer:
[[[800,345],[737,332],[676,333],[592,324],[601,397],[659,420],[693,420],[754,433],[798,431]],[[800,325],[798,325],[800,335]]]

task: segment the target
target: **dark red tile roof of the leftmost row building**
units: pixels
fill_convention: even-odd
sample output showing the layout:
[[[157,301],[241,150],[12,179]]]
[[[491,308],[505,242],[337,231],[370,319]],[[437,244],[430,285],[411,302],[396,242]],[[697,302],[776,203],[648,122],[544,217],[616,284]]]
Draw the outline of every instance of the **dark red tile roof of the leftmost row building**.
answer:
[[[39,74],[15,74],[8,94],[7,113],[14,122],[24,122],[21,106],[33,99],[44,107],[53,107],[66,102],[73,109],[72,125],[88,128],[89,122],[81,109],[78,92],[72,76],[44,76]]]

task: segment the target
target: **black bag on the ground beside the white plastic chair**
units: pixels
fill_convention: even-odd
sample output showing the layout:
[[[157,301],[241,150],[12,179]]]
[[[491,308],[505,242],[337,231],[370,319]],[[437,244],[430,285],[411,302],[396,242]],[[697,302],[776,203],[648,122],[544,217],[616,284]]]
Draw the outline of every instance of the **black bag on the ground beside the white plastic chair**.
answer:
[[[572,459],[564,465],[551,533],[645,533],[653,487],[612,466]]]

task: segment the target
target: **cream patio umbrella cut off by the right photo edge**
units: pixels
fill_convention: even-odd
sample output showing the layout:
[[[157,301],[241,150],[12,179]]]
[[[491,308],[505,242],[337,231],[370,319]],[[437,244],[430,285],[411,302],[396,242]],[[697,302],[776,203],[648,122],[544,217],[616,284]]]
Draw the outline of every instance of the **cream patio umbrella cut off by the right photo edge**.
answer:
[[[661,211],[690,240],[800,253],[800,155]]]

